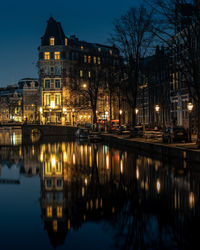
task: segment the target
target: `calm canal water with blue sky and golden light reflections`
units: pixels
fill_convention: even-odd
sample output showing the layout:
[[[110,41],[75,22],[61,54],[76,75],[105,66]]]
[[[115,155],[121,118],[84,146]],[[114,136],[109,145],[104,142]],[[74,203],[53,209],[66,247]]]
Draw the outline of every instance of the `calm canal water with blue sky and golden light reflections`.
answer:
[[[198,249],[198,166],[65,138],[21,142],[0,131],[0,249]]]

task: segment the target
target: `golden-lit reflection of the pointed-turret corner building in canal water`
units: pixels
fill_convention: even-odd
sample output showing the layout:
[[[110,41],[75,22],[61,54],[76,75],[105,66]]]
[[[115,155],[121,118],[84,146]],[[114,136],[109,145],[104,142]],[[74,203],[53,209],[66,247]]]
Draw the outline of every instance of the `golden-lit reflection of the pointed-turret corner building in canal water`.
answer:
[[[53,246],[64,243],[71,227],[78,229],[84,221],[105,219],[118,210],[123,189],[118,159],[117,152],[110,156],[107,146],[41,146],[42,218]]]

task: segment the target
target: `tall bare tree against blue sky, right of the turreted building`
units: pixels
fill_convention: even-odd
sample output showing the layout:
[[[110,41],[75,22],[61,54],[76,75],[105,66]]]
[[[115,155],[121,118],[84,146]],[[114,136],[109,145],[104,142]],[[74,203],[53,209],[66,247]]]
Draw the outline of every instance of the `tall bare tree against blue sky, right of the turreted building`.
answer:
[[[153,43],[153,12],[144,6],[131,8],[114,23],[112,42],[121,50],[125,58],[126,98],[132,111],[132,126],[135,125],[135,108],[140,79],[141,59],[149,53]]]

